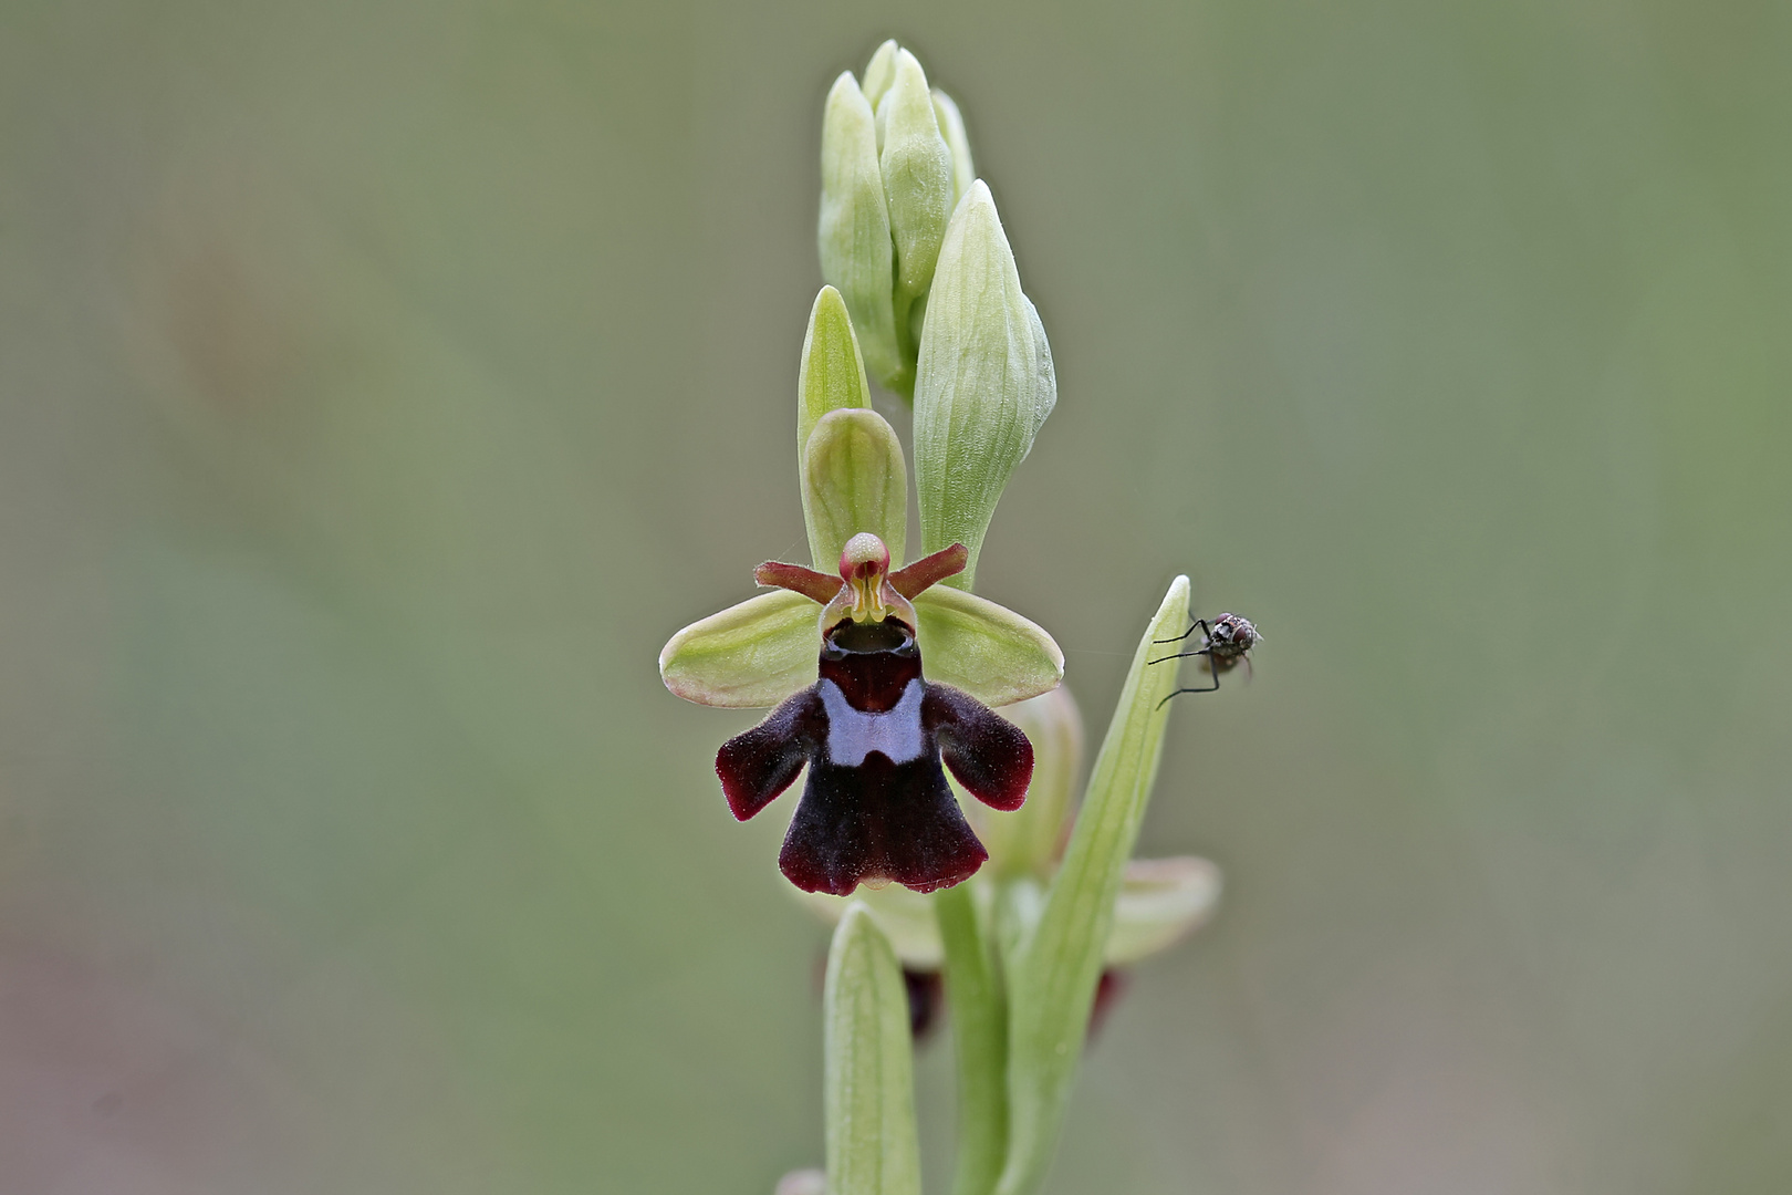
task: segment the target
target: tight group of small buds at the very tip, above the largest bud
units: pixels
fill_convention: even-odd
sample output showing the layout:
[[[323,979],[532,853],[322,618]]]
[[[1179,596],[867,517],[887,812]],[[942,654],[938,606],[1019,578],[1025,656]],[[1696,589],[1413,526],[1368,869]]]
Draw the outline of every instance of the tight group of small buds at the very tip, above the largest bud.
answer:
[[[975,179],[964,118],[914,54],[885,41],[864,86],[842,73],[821,125],[821,276],[840,290],[885,389],[914,394],[946,222]]]

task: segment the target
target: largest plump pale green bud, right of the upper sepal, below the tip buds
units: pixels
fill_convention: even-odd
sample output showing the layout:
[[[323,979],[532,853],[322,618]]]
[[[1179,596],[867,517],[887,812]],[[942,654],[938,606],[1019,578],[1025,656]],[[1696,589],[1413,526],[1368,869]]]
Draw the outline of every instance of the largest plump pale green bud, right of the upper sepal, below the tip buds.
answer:
[[[939,249],[914,400],[921,543],[969,548],[969,566],[946,582],[969,589],[1002,489],[1057,403],[1045,326],[980,179]]]

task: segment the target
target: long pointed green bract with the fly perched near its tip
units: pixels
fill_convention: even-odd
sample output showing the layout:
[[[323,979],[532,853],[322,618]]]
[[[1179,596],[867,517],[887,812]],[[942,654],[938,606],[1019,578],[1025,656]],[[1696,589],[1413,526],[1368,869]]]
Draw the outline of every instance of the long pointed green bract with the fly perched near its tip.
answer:
[[[1009,1157],[998,1195],[1030,1195],[1052,1163],[1176,692],[1176,663],[1147,661],[1186,625],[1188,577],[1177,577],[1133,656],[1039,923],[1009,960]]]

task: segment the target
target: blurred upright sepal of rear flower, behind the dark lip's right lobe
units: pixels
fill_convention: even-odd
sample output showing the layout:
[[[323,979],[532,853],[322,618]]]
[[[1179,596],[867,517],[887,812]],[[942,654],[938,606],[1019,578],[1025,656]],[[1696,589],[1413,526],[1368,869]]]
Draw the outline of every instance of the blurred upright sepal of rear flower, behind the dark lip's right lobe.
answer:
[[[982,801],[964,806],[977,837],[989,851],[996,878],[1050,876],[1064,840],[1064,819],[1082,769],[1082,715],[1070,690],[1059,684],[1002,709],[1032,744],[1032,783],[1027,803],[1004,813]]]

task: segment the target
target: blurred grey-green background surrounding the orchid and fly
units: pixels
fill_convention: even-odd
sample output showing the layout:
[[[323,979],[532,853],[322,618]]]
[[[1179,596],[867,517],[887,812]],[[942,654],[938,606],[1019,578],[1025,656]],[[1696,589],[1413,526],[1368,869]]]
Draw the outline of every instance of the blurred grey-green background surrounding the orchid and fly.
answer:
[[[801,554],[891,34],[1059,369],[980,588],[1097,733],[1176,572],[1269,636],[1052,1190],[1792,1190],[1772,0],[5,4],[0,1188],[821,1159],[824,930],[654,654]]]

